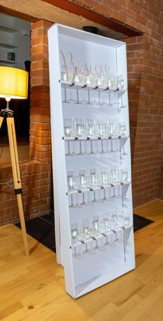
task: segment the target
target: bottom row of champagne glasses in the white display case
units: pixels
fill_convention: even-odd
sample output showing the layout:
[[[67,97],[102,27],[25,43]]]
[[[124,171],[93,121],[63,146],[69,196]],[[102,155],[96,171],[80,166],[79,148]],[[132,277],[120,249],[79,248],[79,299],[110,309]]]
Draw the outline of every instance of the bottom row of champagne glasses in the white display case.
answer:
[[[82,259],[84,254],[93,255],[97,250],[105,251],[108,247],[115,247],[117,243],[124,243],[123,229],[129,225],[129,215],[117,214],[116,211],[107,212],[102,217],[93,216],[91,222],[88,218],[84,218],[80,224],[73,222],[71,236],[73,244],[78,245],[75,247],[74,257]],[[82,245],[85,246],[85,250]]]

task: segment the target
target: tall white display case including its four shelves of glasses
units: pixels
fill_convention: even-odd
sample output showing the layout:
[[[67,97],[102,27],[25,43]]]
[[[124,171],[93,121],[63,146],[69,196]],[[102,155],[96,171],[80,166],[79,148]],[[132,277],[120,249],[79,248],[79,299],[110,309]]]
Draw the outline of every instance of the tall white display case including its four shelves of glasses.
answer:
[[[48,46],[57,262],[79,297],[135,268],[126,44],[55,24]]]

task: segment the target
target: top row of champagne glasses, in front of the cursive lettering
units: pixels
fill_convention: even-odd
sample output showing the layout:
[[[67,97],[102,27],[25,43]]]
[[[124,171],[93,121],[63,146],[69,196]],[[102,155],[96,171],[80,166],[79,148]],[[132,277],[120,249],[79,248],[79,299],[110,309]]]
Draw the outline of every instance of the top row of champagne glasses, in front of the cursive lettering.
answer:
[[[104,87],[105,90],[113,88],[115,91],[119,88],[124,88],[124,78],[123,75],[117,76],[116,72],[110,73],[110,68],[108,65],[99,65],[88,66],[88,64],[83,64],[80,67],[74,66],[73,63],[65,64],[61,66],[61,80],[68,81],[71,85],[69,87],[69,98],[66,96],[66,87],[65,87],[65,98],[64,103],[88,103],[88,104],[97,104],[97,105],[115,105],[116,101],[111,102],[111,93],[108,92],[108,100],[106,100],[106,95],[104,92],[98,92],[97,97],[93,96],[93,99],[90,98],[90,90],[88,90],[88,98],[84,97],[84,88],[89,86],[93,89],[98,87]],[[81,98],[79,98],[79,89],[77,89],[77,97],[72,96],[73,85],[81,84]],[[122,103],[123,105],[123,103]]]

